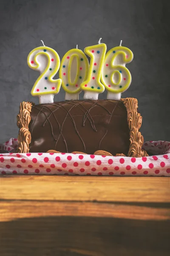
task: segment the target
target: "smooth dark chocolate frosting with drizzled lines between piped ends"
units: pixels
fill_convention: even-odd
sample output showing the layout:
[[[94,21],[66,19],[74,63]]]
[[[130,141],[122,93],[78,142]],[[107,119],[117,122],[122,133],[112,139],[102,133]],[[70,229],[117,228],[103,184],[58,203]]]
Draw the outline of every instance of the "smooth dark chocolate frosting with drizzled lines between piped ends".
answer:
[[[74,100],[34,105],[29,152],[128,154],[130,128],[122,100]]]

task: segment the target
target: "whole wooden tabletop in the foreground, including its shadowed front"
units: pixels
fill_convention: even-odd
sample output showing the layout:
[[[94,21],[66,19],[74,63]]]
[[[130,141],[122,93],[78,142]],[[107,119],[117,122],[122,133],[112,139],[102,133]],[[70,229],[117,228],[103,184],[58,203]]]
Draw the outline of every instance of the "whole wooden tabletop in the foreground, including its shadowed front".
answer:
[[[168,177],[0,178],[0,256],[167,256]]]

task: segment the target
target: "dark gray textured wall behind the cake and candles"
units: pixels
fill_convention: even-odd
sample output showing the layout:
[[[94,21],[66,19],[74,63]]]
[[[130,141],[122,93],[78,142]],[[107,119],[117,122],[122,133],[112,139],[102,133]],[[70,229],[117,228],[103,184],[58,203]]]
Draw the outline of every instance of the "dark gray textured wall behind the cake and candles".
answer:
[[[30,94],[38,73],[26,59],[40,39],[62,58],[99,37],[108,49],[122,39],[134,53],[123,97],[139,101],[144,140],[170,141],[169,15],[169,0],[0,0],[0,143],[17,137],[20,102],[38,103]],[[63,90],[55,100],[64,100]]]

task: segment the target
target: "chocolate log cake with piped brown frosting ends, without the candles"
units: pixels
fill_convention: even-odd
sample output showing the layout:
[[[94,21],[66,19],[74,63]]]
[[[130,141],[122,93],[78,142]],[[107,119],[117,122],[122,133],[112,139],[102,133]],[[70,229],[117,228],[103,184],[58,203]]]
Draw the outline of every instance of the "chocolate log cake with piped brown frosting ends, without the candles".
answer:
[[[22,102],[17,116],[18,152],[82,152],[147,156],[139,132],[137,99]]]

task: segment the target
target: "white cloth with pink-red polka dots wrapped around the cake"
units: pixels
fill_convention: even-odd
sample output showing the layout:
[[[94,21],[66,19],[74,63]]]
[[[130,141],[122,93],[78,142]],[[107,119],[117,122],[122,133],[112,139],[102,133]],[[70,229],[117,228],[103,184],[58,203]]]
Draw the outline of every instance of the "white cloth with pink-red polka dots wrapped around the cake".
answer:
[[[14,153],[16,139],[11,138],[4,144],[3,148],[0,145],[0,174],[170,176],[170,143],[165,141],[144,143],[143,148],[152,155],[140,158],[69,153],[17,154]],[[9,147],[10,152],[3,153]]]

